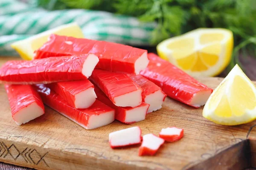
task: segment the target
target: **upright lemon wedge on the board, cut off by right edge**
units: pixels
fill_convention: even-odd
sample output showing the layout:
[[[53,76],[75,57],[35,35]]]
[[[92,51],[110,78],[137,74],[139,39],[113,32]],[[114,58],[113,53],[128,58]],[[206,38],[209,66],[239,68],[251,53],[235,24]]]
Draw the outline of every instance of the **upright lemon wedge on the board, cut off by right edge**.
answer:
[[[212,92],[203,116],[221,125],[240,125],[256,119],[256,88],[238,65]]]

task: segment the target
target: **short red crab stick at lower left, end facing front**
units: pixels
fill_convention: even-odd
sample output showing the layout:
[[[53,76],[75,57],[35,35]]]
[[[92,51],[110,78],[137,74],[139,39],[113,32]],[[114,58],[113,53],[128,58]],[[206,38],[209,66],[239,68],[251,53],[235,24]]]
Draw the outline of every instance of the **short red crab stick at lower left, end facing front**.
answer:
[[[12,119],[22,125],[44,114],[44,104],[32,85],[5,85]]]

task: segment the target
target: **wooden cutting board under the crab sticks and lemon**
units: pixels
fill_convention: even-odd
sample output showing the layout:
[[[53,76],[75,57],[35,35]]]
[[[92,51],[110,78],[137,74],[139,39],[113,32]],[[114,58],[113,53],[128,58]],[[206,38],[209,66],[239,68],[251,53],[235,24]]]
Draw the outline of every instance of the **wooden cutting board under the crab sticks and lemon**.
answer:
[[[8,59],[0,58],[0,65]],[[198,80],[215,88],[222,79]],[[240,170],[254,166],[256,142],[247,135],[256,136],[255,121],[238,126],[217,125],[202,117],[202,109],[167,98],[162,109],[148,114],[142,122],[125,125],[115,121],[86,130],[46,106],[43,116],[18,126],[0,85],[0,161],[40,170]],[[133,126],[140,126],[143,135],[158,135],[168,126],[181,127],[184,137],[163,144],[155,156],[139,157],[139,145],[111,149],[108,134]]]

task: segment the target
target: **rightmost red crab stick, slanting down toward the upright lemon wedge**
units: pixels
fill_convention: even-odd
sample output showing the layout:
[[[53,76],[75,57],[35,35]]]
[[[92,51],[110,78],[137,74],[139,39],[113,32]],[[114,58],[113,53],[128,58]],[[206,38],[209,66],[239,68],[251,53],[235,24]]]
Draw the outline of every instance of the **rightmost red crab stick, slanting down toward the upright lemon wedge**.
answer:
[[[148,54],[148,67],[141,71],[143,77],[154,82],[172,99],[199,108],[205,105],[212,89],[198,82],[170,62],[156,54]]]

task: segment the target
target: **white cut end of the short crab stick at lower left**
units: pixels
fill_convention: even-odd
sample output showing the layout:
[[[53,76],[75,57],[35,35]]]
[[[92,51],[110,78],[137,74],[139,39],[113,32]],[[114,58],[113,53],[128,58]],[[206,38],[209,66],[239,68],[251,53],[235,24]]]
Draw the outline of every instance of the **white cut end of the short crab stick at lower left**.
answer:
[[[25,124],[44,114],[44,110],[39,107],[36,102],[31,103],[27,107],[21,109],[13,115],[17,125]]]

